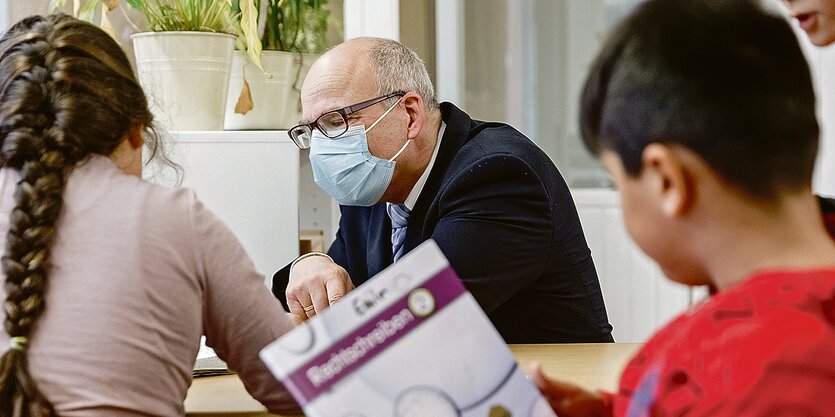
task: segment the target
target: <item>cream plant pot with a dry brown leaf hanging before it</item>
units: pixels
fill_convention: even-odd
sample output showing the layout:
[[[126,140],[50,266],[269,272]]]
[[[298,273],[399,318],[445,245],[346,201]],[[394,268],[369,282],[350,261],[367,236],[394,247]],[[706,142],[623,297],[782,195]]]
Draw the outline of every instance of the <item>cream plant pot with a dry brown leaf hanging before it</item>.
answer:
[[[226,106],[226,130],[288,129],[301,119],[301,92],[304,77],[319,55],[264,51],[261,71],[249,62],[246,53],[235,51]],[[241,95],[244,77],[249,83],[254,107],[240,114],[235,104]]]

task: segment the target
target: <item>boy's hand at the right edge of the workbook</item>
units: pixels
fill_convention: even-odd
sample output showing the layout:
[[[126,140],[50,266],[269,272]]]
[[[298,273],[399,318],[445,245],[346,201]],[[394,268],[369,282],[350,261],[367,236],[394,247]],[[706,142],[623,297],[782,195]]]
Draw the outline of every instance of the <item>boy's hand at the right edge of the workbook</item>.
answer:
[[[528,368],[531,381],[559,417],[603,417],[603,398],[576,385],[550,379],[536,362]]]

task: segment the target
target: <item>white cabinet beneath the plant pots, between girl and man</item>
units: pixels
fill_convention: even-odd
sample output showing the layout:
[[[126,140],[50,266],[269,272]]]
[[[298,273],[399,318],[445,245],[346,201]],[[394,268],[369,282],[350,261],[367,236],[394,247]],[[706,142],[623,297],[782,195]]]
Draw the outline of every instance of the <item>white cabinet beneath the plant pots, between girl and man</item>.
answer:
[[[176,132],[167,149],[183,186],[226,223],[258,272],[272,274],[299,252],[299,150],[283,131]],[[156,175],[155,175],[156,174]],[[147,170],[172,185],[170,173]]]

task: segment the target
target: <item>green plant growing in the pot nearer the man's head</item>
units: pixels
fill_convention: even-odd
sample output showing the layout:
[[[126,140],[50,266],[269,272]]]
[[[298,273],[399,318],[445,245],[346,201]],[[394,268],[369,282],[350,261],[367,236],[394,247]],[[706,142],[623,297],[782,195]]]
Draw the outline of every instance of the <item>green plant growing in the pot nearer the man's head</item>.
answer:
[[[321,53],[327,48],[328,0],[232,0],[250,60],[261,50]],[[239,12],[239,14],[238,14]]]

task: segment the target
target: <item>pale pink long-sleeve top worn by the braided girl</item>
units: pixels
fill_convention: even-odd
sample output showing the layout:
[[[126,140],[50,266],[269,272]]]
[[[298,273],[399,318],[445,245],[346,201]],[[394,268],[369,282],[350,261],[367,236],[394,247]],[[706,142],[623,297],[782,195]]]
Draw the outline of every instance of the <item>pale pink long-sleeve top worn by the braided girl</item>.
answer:
[[[18,180],[0,169],[3,242]],[[258,358],[292,325],[238,240],[192,191],[93,156],[68,179],[48,280],[29,363],[58,415],[183,415],[202,334],[267,408],[296,409]],[[8,346],[0,330],[0,353]]]

